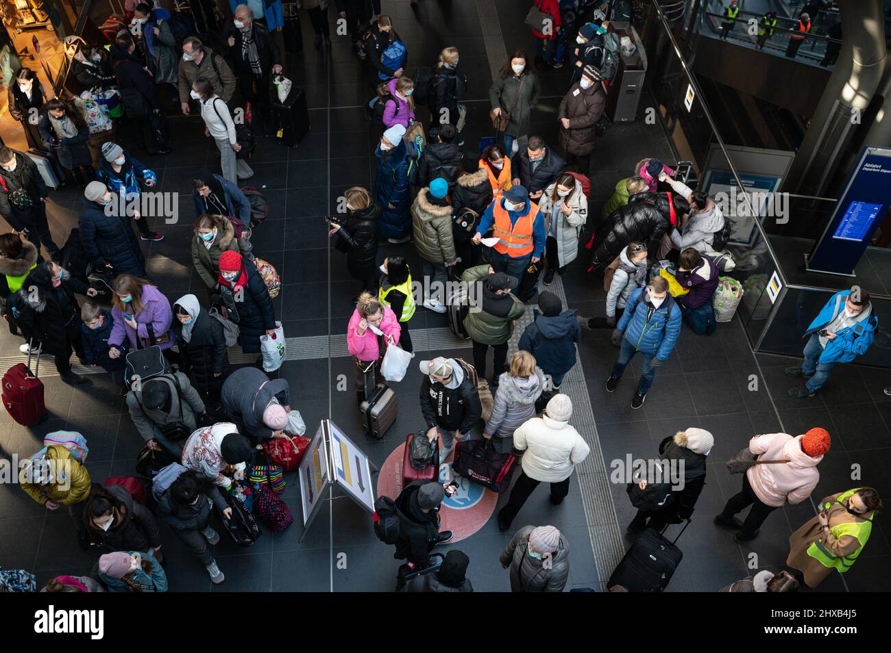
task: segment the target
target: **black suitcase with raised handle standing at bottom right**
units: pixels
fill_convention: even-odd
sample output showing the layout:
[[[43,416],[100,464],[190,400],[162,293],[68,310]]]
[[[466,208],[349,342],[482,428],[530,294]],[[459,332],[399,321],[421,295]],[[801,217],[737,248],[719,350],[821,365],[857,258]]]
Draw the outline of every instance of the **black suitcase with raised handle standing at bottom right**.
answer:
[[[628,592],[663,592],[683,559],[683,552],[675,543],[689,524],[689,521],[684,523],[674,542],[662,535],[665,528],[662,533],[652,528],[643,531],[609,576],[607,589],[622,585]]]

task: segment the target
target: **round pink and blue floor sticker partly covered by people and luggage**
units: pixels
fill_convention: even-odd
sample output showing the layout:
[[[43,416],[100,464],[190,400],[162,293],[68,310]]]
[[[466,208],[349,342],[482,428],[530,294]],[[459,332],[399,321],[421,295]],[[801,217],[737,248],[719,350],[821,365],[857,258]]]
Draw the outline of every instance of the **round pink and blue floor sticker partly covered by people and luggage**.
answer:
[[[441,445],[440,445],[441,446]],[[402,492],[402,465],[405,457],[405,442],[387,456],[378,474],[378,495],[396,498]],[[453,542],[476,533],[495,512],[498,494],[477,483],[471,483],[452,472],[451,464],[439,465],[439,482],[458,481],[458,491],[446,496],[439,509],[442,530],[451,530]]]

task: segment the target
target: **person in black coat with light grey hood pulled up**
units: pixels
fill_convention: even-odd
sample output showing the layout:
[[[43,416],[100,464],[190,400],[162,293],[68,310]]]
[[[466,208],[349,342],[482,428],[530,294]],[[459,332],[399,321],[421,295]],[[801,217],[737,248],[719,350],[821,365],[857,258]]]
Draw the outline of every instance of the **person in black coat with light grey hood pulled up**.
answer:
[[[182,359],[180,370],[208,400],[219,397],[229,375],[229,352],[223,325],[210,317],[193,294],[184,294],[173,305],[174,330]]]

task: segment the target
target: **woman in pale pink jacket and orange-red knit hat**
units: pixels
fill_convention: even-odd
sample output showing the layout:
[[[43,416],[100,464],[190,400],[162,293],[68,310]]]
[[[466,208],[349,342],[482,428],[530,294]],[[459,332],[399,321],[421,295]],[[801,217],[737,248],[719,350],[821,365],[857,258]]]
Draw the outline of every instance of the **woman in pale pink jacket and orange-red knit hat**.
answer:
[[[737,542],[756,538],[767,515],[787,501],[800,504],[811,496],[820,480],[817,464],[830,450],[830,444],[829,431],[821,428],[794,438],[787,433],[770,433],[750,439],[748,450],[757,456],[756,464],[743,475],[740,494],[730,498],[715,517],[715,524],[739,528],[734,536]],[[733,516],[749,505],[752,510],[745,522]]]

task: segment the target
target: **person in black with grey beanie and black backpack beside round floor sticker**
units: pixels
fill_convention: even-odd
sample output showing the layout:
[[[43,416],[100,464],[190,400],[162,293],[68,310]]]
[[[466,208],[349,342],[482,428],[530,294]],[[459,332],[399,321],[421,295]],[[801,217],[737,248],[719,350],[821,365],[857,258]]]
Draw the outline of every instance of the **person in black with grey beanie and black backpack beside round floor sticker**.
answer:
[[[437,544],[452,539],[452,531],[439,531],[439,505],[446,497],[446,490],[436,482],[416,480],[405,486],[396,497],[400,529],[396,541],[396,560],[408,560],[399,568],[399,581],[396,590],[405,584],[403,576],[415,569],[430,566],[430,552]],[[406,568],[407,567],[407,568]]]

